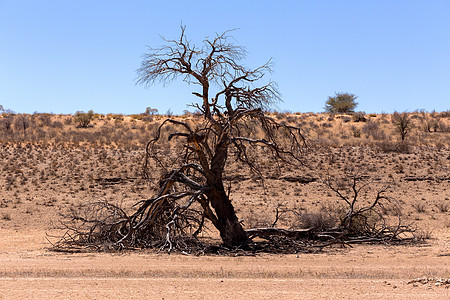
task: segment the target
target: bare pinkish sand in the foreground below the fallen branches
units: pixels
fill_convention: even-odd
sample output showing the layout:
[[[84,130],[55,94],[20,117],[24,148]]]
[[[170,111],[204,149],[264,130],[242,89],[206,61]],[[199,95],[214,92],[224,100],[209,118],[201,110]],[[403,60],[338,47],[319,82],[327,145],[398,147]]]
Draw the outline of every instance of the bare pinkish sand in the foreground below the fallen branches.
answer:
[[[57,253],[40,231],[2,229],[0,299],[449,299],[450,235],[425,245],[255,257]]]

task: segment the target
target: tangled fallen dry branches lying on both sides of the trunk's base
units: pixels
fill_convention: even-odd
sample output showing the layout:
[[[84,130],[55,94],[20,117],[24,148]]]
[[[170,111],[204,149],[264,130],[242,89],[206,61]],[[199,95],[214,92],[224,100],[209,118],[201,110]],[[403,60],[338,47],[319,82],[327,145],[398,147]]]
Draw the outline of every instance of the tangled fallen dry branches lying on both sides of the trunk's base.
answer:
[[[187,180],[179,172],[167,175],[162,179],[162,192],[136,203],[138,209],[132,215],[106,201],[69,209],[59,227],[65,233],[53,244],[53,249],[73,252],[152,248],[185,254],[253,255],[262,252],[314,252],[333,245],[404,244],[420,240],[412,227],[402,224],[400,217],[396,224],[388,225],[385,216],[377,211],[390,200],[385,196],[386,188],[376,193],[373,202],[359,206],[358,195],[369,185],[359,186],[360,177],[353,176],[350,180],[353,196],[350,198],[331,181],[327,183],[348,206],[335,227],[330,228],[328,224],[309,228],[276,228],[280,213],[277,207],[273,227],[247,229],[245,234],[249,242],[245,246],[211,244],[198,238],[198,233],[206,226],[205,214],[214,216],[213,212],[194,209],[197,201],[206,201],[201,186],[189,182],[197,188],[195,192],[169,193],[175,178]],[[284,210],[283,213],[292,211]]]

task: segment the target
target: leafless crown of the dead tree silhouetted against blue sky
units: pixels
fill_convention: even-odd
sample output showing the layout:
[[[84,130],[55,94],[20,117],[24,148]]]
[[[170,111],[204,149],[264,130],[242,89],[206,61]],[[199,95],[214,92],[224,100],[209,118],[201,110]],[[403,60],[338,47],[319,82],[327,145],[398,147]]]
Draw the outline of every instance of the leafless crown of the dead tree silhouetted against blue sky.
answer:
[[[246,57],[241,46],[230,40],[230,31],[216,34],[213,39],[205,38],[203,45],[192,45],[181,27],[177,40],[166,40],[166,46],[149,48],[138,69],[137,83],[151,85],[155,82],[168,84],[178,77],[188,83],[201,86],[201,106],[194,104],[206,118],[221,117],[224,112],[232,118],[243,109],[264,108],[279,100],[274,82],[255,87],[254,83],[271,72],[271,61],[256,69],[248,69],[239,62]],[[218,88],[210,98],[210,86]]]

